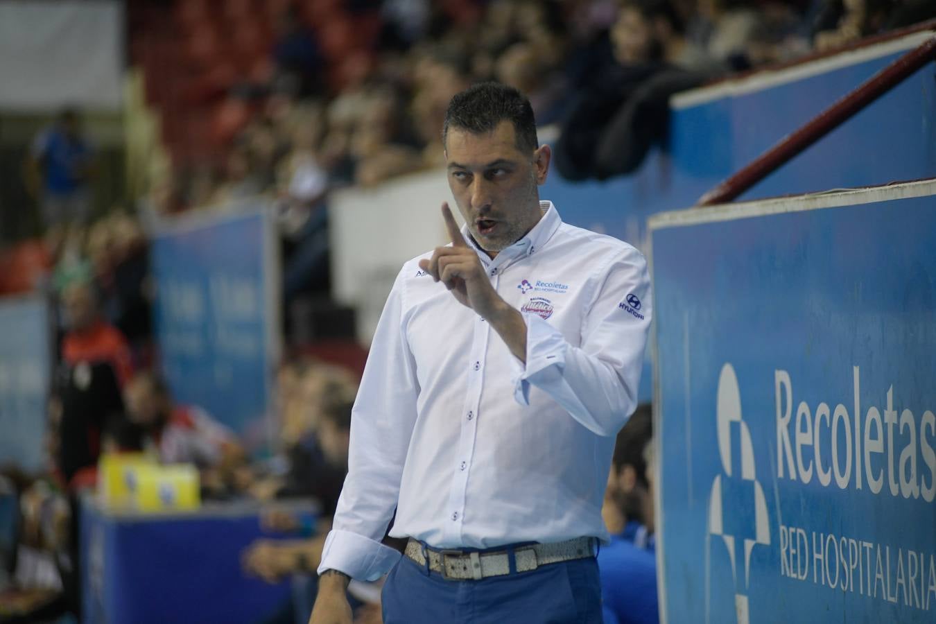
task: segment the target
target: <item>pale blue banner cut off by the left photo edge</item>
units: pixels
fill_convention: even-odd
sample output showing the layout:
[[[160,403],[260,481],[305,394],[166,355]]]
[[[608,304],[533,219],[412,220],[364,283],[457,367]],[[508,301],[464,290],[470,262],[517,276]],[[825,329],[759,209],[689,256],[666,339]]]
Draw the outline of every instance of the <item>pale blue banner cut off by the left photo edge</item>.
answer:
[[[45,466],[51,383],[49,307],[42,298],[0,299],[0,466]]]

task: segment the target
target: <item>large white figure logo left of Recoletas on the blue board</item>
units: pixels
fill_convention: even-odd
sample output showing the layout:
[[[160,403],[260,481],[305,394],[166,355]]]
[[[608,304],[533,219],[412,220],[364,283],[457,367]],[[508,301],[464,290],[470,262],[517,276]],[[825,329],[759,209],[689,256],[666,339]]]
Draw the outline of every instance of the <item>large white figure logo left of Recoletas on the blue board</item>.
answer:
[[[738,617],[738,624],[749,624],[750,613],[748,611],[748,587],[751,582],[751,551],[757,544],[770,544],[770,529],[767,515],[767,500],[764,497],[764,488],[754,474],[754,453],[751,443],[751,430],[741,417],[741,395],[738,389],[738,377],[735,375],[735,369],[731,364],[725,364],[722,367],[722,373],[718,378],[718,401],[715,416],[716,427],[718,428],[718,453],[722,458],[722,468],[724,474],[715,475],[711,484],[711,493],[709,494],[709,536],[717,535],[722,538],[724,546],[727,549],[728,556],[731,558],[731,575],[735,587],[735,613]],[[740,435],[740,474],[734,471],[731,457],[731,431],[732,423],[738,424]],[[737,511],[736,506],[728,502],[725,507],[722,498],[723,484],[728,480],[735,480],[740,477],[741,483],[747,482],[753,488],[754,503],[754,526],[749,528],[747,534],[751,534],[753,529],[753,539],[738,536],[725,532],[724,518],[725,512],[733,514]],[[738,570],[736,559],[736,548],[742,547],[743,550],[743,570]],[[711,543],[709,542],[709,554],[707,557],[706,581],[710,582],[711,576]],[[724,552],[724,551],[723,551]],[[743,577],[739,577],[743,573]],[[707,588],[707,591],[709,588]],[[707,601],[708,602],[708,601]],[[709,614],[706,614],[708,620]]]

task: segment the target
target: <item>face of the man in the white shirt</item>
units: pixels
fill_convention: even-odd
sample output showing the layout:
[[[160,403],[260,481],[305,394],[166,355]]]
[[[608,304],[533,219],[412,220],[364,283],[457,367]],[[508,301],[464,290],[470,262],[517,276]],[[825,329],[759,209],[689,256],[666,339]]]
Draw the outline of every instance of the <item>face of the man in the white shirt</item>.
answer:
[[[548,145],[522,152],[509,121],[482,134],[449,128],[448,186],[468,231],[491,257],[542,217],[536,187],[546,181],[549,155]]]

